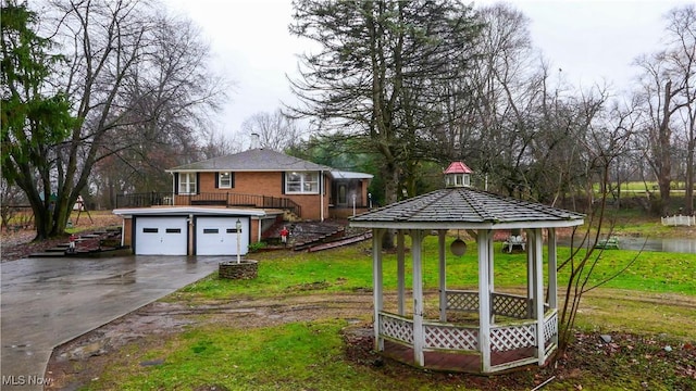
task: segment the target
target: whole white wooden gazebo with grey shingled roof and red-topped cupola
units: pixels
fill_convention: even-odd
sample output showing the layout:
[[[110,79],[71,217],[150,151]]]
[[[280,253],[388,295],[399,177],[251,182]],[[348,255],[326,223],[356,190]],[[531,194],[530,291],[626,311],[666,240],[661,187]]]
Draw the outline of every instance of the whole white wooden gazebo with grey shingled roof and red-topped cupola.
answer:
[[[472,189],[471,173],[467,165],[455,162],[444,173],[445,189],[351,218],[352,227],[373,231],[375,350],[407,364],[438,370],[495,374],[534,364],[543,366],[558,346],[556,228],[582,225],[584,215]],[[382,239],[389,230],[397,235],[397,303],[390,303],[391,312],[385,310],[382,258]],[[475,238],[477,290],[447,288],[448,230],[464,230]],[[523,230],[526,235],[524,295],[496,292],[493,239],[497,230]],[[548,247],[547,287],[544,230]],[[406,234],[411,237],[413,282],[413,307],[408,311]],[[422,253],[427,235],[437,235],[439,254],[438,311],[430,317],[423,297]],[[461,255],[465,242],[457,238],[450,250]]]

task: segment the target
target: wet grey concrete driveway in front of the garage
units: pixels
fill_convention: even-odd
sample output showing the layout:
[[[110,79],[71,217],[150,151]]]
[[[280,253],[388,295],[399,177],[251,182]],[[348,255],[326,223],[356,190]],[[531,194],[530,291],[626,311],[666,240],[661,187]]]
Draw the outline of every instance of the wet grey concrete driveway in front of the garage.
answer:
[[[225,256],[26,258],[2,268],[1,390],[42,390],[54,346],[217,269]]]

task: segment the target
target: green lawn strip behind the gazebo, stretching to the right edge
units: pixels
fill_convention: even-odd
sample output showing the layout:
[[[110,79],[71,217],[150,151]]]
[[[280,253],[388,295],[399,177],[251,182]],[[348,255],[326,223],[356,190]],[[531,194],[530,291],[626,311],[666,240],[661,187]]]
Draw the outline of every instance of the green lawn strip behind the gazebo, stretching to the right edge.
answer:
[[[424,241],[424,289],[437,288],[437,239]],[[569,256],[568,248],[559,248],[559,262]],[[638,255],[639,254],[639,255]],[[597,283],[637,260],[623,274],[609,281],[607,288],[632,289],[646,292],[682,293],[696,295],[696,254],[608,250],[598,256],[591,283]],[[349,292],[372,287],[372,258],[365,243],[315,253],[269,252],[254,254],[259,264],[259,278],[247,281],[221,280],[210,276],[179,291],[177,300],[201,297],[259,295],[269,297],[322,287],[327,292]],[[546,255],[545,255],[546,258]],[[477,283],[476,244],[469,243],[462,257],[447,258],[448,287],[472,287]],[[496,243],[495,283],[499,288],[524,286],[526,255],[508,254]],[[411,286],[410,262],[407,261],[407,286]],[[559,274],[560,285],[567,280],[566,270]],[[395,290],[396,255],[384,256],[384,286]],[[315,289],[312,289],[315,290]]]

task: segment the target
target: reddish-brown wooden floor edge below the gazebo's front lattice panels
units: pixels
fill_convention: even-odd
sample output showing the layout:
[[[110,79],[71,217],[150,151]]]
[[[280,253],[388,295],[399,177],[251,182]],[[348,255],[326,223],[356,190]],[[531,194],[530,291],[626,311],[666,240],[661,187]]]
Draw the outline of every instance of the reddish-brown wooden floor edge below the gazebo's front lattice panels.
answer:
[[[385,356],[391,357],[398,362],[415,365],[413,361],[413,348],[402,345],[393,341],[384,341]],[[534,357],[534,348],[517,349],[507,352],[490,352],[490,365],[500,365],[505,363],[515,362],[518,360]],[[481,354],[480,353],[447,353],[447,352],[424,352],[424,368],[455,371],[481,374]]]

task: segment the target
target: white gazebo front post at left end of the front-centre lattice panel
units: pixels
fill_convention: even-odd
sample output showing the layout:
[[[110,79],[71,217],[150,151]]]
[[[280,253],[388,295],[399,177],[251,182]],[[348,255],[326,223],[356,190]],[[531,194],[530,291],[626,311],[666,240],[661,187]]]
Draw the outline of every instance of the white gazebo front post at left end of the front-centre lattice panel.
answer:
[[[413,260],[413,361],[419,366],[425,365],[423,346],[425,333],[423,329],[423,231],[411,230],[411,257]]]

